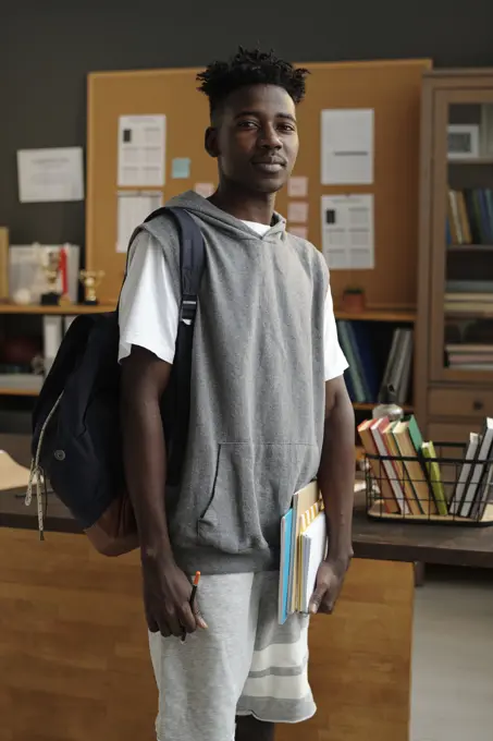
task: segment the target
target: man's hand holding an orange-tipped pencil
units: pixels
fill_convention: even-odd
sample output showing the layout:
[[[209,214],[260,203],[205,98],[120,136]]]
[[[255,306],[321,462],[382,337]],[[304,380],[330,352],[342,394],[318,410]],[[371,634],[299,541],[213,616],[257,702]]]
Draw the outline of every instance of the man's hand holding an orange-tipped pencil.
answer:
[[[190,607],[192,583],[173,560],[143,558],[144,605],[149,631],[163,637],[181,637],[207,629],[197,600]]]

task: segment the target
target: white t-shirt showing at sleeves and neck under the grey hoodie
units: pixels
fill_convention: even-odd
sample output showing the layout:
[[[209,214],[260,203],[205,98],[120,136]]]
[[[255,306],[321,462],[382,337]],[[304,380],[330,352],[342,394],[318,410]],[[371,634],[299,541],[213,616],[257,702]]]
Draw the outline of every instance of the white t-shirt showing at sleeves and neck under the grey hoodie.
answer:
[[[270,227],[244,221],[263,235]],[[174,288],[162,247],[141,231],[132,246],[132,259],[120,297],[119,360],[130,355],[132,345],[149,350],[160,360],[173,363],[178,328],[180,296]],[[329,289],[324,315],[325,380],[342,376],[347,362],[337,340],[332,295]]]

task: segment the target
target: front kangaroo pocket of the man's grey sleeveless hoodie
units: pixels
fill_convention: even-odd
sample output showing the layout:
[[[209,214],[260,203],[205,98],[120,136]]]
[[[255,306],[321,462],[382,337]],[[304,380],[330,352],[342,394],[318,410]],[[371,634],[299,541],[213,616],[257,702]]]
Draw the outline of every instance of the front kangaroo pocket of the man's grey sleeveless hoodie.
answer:
[[[278,547],[281,518],[317,467],[318,449],[310,445],[221,445],[213,489],[198,522],[200,542],[230,554]]]

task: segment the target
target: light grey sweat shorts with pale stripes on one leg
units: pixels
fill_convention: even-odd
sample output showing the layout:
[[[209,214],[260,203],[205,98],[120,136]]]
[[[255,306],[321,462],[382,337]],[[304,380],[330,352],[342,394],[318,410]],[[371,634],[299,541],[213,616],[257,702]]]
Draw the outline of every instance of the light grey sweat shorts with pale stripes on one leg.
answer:
[[[159,691],[158,741],[233,741],[235,716],[300,722],[308,684],[308,617],[278,622],[279,572],[202,576],[209,627],[180,639],[149,633]]]

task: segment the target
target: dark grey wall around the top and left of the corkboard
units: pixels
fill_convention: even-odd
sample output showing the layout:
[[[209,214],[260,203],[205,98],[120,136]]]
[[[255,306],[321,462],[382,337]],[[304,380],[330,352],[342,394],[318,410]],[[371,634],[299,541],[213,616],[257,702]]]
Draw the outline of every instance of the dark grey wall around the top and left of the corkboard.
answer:
[[[202,65],[237,44],[297,61],[493,65],[493,0],[14,2],[0,10],[0,224],[17,244],[84,242],[84,204],[19,203],[15,153],[85,144],[88,72]]]

